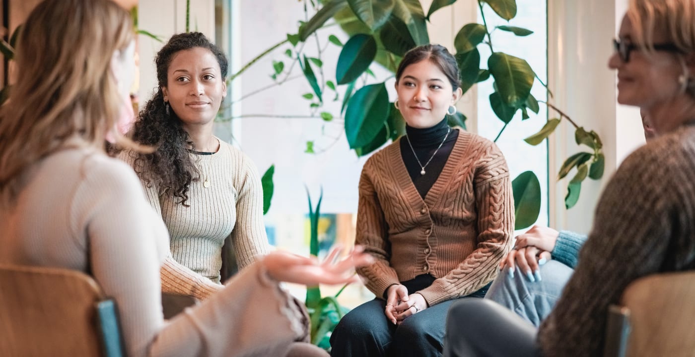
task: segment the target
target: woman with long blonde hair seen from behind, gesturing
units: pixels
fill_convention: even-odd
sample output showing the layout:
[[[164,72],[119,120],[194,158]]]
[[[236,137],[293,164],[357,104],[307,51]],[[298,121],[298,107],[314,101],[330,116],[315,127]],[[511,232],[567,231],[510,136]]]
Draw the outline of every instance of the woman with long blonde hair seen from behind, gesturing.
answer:
[[[131,167],[104,151],[107,134],[147,149],[117,132],[133,67],[130,15],[111,0],[46,0],[28,16],[0,109],[0,263],[90,274],[117,303],[131,357],[285,356],[303,331],[279,282],[353,281],[370,257],[356,249],[334,263],[334,251],[317,263],[276,251],[165,323],[166,227]]]

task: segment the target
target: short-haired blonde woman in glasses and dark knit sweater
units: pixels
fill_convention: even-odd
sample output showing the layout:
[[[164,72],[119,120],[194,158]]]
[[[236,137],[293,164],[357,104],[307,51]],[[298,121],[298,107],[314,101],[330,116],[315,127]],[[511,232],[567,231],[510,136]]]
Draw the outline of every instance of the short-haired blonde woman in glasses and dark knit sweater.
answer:
[[[539,328],[490,300],[462,301],[448,315],[444,356],[600,356],[608,306],[628,284],[695,269],[695,1],[630,1],[614,46],[618,102],[639,107],[657,137],[607,183]]]

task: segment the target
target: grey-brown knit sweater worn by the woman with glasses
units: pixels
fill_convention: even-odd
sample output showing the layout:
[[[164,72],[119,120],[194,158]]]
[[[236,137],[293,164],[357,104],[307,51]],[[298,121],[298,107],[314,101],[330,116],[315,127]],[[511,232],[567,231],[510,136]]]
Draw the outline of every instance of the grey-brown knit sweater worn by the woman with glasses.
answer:
[[[541,324],[545,356],[601,356],[608,306],[649,274],[695,267],[695,127],[632,153],[606,185],[562,298]]]

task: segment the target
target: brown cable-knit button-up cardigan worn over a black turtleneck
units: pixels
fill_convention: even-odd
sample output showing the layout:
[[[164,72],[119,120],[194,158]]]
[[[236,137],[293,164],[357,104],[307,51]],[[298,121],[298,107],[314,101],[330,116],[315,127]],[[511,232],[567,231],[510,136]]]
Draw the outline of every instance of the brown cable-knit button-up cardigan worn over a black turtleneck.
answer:
[[[507,162],[490,140],[458,130],[424,200],[398,140],[362,169],[356,242],[377,263],[357,272],[377,297],[389,285],[420,274],[436,278],[420,290],[430,306],[464,297],[495,278],[498,263],[512,248],[514,198]]]

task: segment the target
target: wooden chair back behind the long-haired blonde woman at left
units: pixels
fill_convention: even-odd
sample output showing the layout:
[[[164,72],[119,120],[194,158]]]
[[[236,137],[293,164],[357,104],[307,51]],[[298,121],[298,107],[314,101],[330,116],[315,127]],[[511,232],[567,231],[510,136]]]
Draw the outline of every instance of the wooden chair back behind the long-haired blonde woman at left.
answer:
[[[81,272],[0,265],[0,356],[124,356],[114,301]]]

